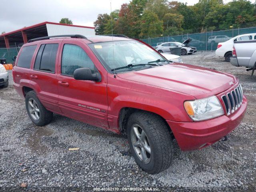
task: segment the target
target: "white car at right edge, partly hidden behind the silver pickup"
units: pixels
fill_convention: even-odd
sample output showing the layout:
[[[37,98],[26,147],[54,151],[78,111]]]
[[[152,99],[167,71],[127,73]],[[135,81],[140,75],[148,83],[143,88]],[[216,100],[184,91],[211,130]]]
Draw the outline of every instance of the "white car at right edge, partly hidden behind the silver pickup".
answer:
[[[232,48],[235,41],[244,40],[256,40],[256,33],[238,35],[226,42],[218,43],[217,50],[215,54],[219,57],[224,57],[225,61],[230,62],[230,57],[232,57]]]

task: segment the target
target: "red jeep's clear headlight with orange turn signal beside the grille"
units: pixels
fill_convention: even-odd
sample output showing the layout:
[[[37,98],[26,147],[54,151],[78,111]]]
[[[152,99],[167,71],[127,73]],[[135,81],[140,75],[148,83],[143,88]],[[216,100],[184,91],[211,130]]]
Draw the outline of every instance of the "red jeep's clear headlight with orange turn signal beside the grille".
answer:
[[[194,121],[202,121],[224,115],[224,110],[216,96],[185,101],[184,108]]]

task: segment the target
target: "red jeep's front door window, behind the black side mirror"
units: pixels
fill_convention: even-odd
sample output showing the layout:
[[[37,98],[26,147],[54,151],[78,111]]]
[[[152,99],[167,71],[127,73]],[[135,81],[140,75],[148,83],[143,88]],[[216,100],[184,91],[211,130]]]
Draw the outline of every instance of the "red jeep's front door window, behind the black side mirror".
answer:
[[[78,68],[90,68],[94,73],[94,64],[84,50],[72,44],[65,44],[62,51],[61,73],[74,75]]]

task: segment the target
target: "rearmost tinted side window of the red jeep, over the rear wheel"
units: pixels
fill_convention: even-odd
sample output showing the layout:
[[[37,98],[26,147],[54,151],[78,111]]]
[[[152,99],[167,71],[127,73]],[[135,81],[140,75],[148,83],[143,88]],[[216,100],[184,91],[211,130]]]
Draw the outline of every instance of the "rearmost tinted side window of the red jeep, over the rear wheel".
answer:
[[[32,57],[34,55],[34,52],[36,50],[37,45],[31,45],[26,46],[22,48],[22,51],[20,53],[17,66],[24,67],[24,68],[30,68],[30,63],[32,60]]]

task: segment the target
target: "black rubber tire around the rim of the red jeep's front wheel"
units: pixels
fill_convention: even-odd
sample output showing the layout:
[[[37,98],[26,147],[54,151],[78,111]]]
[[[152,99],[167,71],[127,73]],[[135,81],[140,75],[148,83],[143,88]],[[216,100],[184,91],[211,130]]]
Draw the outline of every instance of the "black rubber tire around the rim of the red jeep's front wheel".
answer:
[[[138,156],[133,146],[132,129],[134,125],[139,125],[146,133],[146,141],[148,141],[151,150],[150,161],[147,163],[144,163]],[[150,112],[135,112],[131,114],[127,122],[127,136],[132,155],[138,166],[144,171],[149,174],[157,174],[166,170],[172,163],[174,150],[170,128],[160,116]]]

